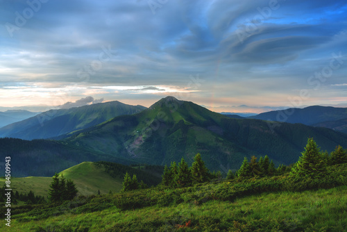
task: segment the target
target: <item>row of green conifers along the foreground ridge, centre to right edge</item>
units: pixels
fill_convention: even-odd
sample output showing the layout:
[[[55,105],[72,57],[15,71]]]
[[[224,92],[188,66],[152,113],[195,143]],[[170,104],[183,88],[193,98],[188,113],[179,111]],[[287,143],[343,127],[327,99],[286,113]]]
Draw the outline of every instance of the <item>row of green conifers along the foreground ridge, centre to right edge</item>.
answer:
[[[248,158],[245,157],[244,162],[237,172],[233,173],[231,169],[228,170],[226,179],[274,176],[287,172],[290,173],[290,176],[301,178],[308,176],[316,178],[325,174],[326,167],[342,163],[347,163],[347,151],[343,149],[343,147],[339,145],[329,154],[328,151],[321,151],[313,138],[309,138],[305,151],[302,152],[302,156],[292,167],[279,165],[276,168],[273,160],[269,159],[269,156],[264,156],[264,158],[260,157],[259,160],[257,160],[255,156],[252,156],[249,162]],[[182,188],[192,186],[195,183],[204,183],[217,177],[221,177],[221,172],[217,172],[217,174],[215,172],[211,173],[210,170],[205,167],[201,154],[196,154],[192,167],[187,165],[184,158],[181,159],[178,165],[176,162],[172,162],[170,167],[165,165],[162,174],[162,182],[160,184],[170,188]],[[123,191],[139,188],[135,182],[136,176],[133,176],[133,179],[131,179],[130,176],[126,174],[124,177]]]

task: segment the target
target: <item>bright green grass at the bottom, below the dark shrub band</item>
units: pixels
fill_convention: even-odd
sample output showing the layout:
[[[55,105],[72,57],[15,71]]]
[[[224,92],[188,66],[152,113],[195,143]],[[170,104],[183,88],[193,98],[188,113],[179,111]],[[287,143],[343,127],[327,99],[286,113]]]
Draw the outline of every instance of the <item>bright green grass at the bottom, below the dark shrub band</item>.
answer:
[[[31,222],[12,219],[11,231],[176,231],[178,224],[189,221],[190,226],[180,231],[344,231],[347,187],[263,193],[202,205],[183,203],[137,210],[110,206],[92,213],[71,211]],[[4,224],[0,224],[3,228]]]

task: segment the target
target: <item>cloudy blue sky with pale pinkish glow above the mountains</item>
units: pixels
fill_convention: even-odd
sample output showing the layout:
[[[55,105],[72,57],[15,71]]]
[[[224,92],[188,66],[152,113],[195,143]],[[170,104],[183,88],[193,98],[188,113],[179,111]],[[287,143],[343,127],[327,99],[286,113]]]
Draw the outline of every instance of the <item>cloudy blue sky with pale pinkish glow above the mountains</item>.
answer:
[[[0,0],[0,108],[347,106],[347,2]],[[248,107],[251,106],[251,107]]]

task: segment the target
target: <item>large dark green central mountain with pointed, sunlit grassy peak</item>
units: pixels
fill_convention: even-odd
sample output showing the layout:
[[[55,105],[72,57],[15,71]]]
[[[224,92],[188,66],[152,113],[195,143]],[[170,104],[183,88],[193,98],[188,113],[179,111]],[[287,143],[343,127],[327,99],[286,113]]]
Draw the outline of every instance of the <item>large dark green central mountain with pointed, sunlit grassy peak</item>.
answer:
[[[184,157],[193,162],[201,153],[208,168],[238,169],[244,156],[269,155],[276,164],[289,165],[301,156],[312,137],[323,150],[347,147],[347,135],[303,124],[231,119],[189,101],[166,97],[135,115],[114,119],[72,133],[64,142],[78,144],[136,163],[169,165]]]

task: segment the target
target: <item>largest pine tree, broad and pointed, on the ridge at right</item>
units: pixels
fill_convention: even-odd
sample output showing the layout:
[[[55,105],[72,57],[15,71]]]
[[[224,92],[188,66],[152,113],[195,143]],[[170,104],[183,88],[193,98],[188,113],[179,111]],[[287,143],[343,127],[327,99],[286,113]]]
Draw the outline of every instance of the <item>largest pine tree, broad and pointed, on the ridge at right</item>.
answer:
[[[325,172],[325,163],[316,142],[312,138],[307,140],[305,151],[298,162],[291,169],[291,175],[297,177],[320,177]]]

